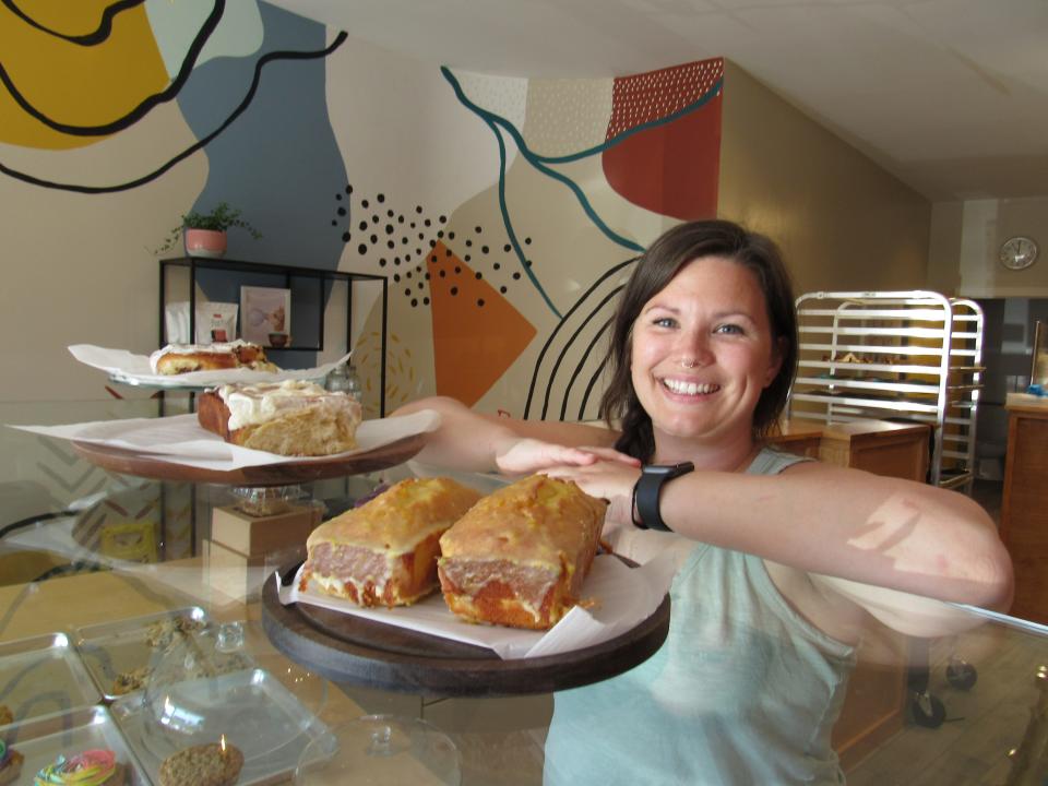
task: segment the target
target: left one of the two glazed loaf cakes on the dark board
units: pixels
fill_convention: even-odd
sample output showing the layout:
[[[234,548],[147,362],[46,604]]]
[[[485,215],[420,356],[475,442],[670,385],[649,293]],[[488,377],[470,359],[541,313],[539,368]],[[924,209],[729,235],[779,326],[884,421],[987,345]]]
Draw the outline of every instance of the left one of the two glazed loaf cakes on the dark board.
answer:
[[[440,536],[480,499],[449,478],[410,478],[317,527],[300,588],[358,606],[406,606],[437,588]]]

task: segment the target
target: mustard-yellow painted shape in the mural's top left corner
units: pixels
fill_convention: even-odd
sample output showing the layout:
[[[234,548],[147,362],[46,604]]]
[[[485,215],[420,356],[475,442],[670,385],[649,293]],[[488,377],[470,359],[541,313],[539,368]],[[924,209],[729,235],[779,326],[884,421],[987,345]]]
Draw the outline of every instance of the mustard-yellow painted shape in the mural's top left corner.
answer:
[[[108,4],[109,0],[19,0],[23,13],[63,35],[95,31]],[[71,126],[112,122],[168,84],[144,4],[117,14],[109,37],[94,46],[39,31],[0,4],[0,52],[22,96],[46,117]],[[68,150],[100,139],[105,138],[56,131],[0,90],[0,142]]]

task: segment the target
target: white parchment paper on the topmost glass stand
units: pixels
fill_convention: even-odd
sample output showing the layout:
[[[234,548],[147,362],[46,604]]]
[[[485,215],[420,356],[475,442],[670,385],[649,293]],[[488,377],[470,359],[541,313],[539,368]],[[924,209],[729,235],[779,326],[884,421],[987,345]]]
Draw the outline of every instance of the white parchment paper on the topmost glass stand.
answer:
[[[281,382],[283,380],[322,380],[336,366],[346,362],[345,355],[334,362],[309,369],[282,369],[279,371],[253,371],[251,369],[222,369],[218,371],[190,371],[183,374],[158,374],[150,366],[148,355],[133,355],[127,349],[107,349],[92,344],[73,344],[70,354],[82,364],[109,373],[114,379],[130,384],[157,385],[160,388],[206,388],[231,382]]]

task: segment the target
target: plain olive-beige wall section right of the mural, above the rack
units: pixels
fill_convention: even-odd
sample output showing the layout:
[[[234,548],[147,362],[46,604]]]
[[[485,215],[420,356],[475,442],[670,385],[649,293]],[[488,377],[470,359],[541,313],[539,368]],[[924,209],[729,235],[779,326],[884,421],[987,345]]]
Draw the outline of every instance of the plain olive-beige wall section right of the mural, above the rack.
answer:
[[[779,242],[798,294],[927,286],[928,200],[728,61],[718,213]]]

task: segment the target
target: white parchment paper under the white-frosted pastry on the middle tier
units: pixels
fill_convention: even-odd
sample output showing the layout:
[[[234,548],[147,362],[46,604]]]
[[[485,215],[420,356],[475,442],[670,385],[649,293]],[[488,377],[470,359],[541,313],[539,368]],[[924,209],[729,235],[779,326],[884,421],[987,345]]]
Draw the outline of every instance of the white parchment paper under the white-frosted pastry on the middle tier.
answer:
[[[285,456],[229,444],[218,434],[202,428],[195,415],[95,420],[67,426],[11,426],[11,428],[45,437],[130,450],[171,464],[228,472],[262,464],[330,462],[333,458],[356,456],[405,437],[433,431],[438,426],[440,426],[440,415],[432,409],[422,409],[402,417],[365,420],[357,429],[358,446],[355,450],[326,456]]]

